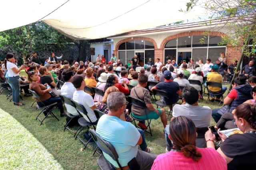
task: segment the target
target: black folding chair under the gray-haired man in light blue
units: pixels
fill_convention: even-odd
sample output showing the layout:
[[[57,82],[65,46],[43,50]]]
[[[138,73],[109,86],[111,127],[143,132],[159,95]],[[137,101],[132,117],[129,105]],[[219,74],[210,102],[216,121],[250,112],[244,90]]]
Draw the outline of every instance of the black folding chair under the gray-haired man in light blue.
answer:
[[[95,143],[97,144],[100,151],[108,154],[114,161],[116,161],[116,163],[120,167],[120,170],[123,170],[122,166],[120,165],[120,163],[118,161],[118,154],[117,154],[114,146],[111,145],[111,143],[109,143],[108,141],[105,141],[104,139],[102,139],[95,132],[94,129],[89,129],[89,133],[91,134],[92,139],[95,141]],[[106,158],[104,157],[103,154],[98,157],[98,165],[101,170],[116,170],[116,168],[112,164],[110,164],[110,162],[108,162],[108,160],[106,160]],[[140,169],[140,167],[138,167],[138,166],[134,167],[134,168],[130,168],[130,170],[139,170],[139,169]]]

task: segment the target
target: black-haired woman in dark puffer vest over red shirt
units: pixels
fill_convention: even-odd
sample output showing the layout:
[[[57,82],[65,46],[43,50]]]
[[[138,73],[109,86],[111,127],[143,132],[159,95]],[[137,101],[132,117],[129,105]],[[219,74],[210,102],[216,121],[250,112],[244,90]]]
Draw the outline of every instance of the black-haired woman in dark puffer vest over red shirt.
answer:
[[[232,82],[232,90],[228,96],[224,99],[224,105],[220,109],[212,110],[212,118],[217,123],[224,113],[232,113],[232,111],[246,100],[252,99],[251,91],[252,86],[246,83],[246,76],[240,75],[236,77]]]

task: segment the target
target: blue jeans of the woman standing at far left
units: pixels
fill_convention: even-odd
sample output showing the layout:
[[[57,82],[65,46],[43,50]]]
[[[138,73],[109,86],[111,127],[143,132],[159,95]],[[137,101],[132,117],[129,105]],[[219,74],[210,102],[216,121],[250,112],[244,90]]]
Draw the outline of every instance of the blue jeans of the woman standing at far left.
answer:
[[[8,77],[8,80],[12,87],[12,102],[19,103],[20,102],[20,76]]]

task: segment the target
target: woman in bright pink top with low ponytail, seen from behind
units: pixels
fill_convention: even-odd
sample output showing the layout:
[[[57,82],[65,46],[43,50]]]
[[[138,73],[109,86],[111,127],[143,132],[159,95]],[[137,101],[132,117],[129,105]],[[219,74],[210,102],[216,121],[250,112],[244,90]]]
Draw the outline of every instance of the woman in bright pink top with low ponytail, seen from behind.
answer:
[[[170,121],[170,152],[160,154],[151,170],[226,170],[226,160],[212,148],[196,147],[196,126],[185,116]]]

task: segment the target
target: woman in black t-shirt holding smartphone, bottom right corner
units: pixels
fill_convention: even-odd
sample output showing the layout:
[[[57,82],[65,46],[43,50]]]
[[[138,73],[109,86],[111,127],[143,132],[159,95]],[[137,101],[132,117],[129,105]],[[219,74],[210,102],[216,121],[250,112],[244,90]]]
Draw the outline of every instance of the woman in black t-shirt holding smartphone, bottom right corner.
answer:
[[[256,167],[256,106],[240,104],[232,111],[235,123],[243,134],[227,137],[219,132],[223,143],[217,152],[225,158],[229,170],[253,170]],[[207,148],[214,149],[216,137],[211,129],[205,133]]]

